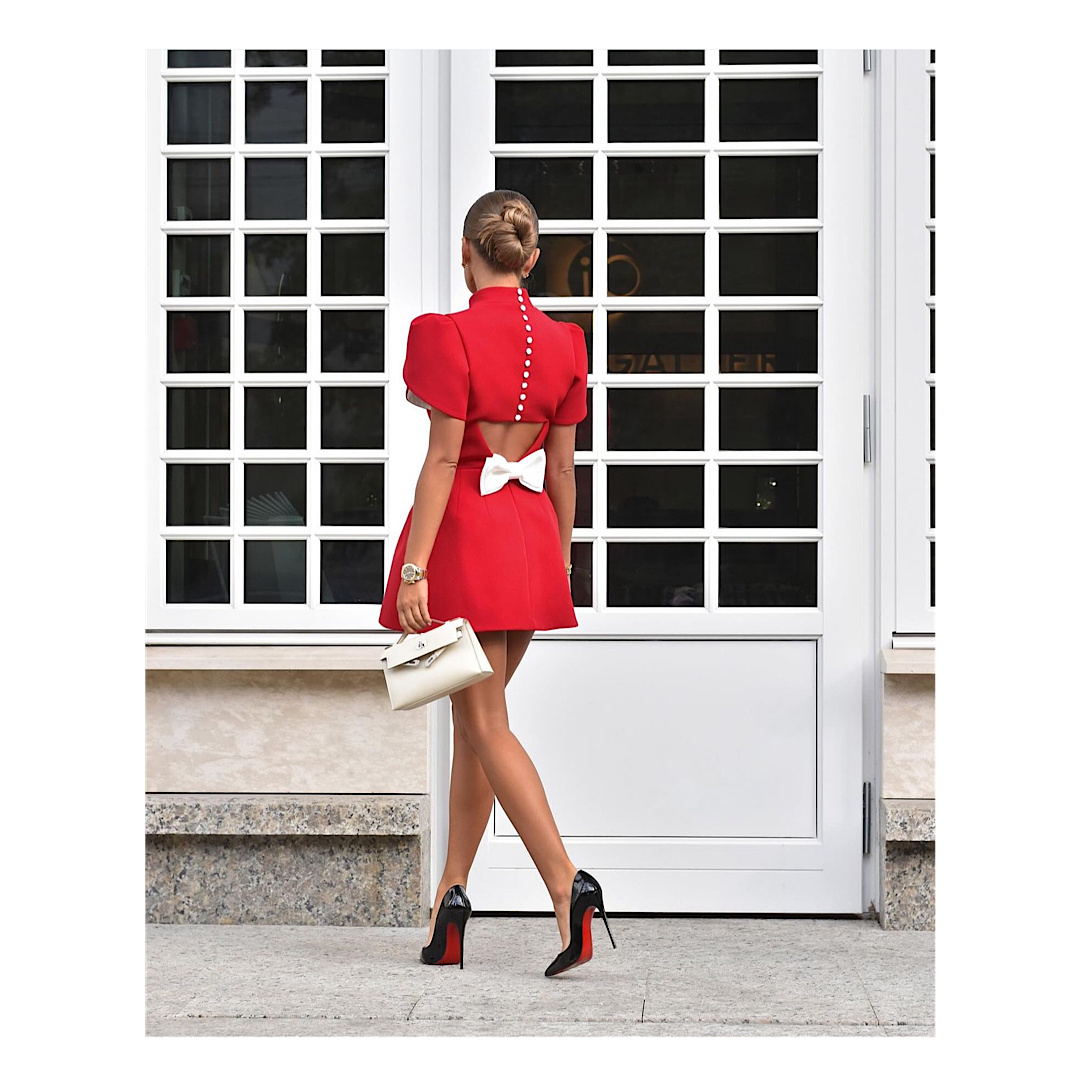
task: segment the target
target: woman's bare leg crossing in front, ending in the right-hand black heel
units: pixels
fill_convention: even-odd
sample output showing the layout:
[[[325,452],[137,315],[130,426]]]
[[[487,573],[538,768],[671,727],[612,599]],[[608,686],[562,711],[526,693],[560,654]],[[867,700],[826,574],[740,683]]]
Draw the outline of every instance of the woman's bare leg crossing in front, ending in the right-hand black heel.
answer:
[[[532,856],[555,906],[566,948],[570,941],[570,888],[577,869],[563,847],[536,766],[510,730],[504,688],[508,636],[514,635],[492,631],[477,636],[495,677],[451,697],[455,729],[480,759],[495,796]]]

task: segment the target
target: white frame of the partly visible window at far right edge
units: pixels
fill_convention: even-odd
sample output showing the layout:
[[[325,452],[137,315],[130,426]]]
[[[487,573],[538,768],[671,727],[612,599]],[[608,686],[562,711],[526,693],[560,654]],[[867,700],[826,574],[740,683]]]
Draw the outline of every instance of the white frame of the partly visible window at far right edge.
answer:
[[[894,319],[894,484],[895,615],[897,634],[932,635],[937,610],[930,605],[930,553],[936,530],[930,527],[930,391],[937,377],[930,370],[930,312],[937,297],[930,292],[930,80],[936,66],[926,49],[896,50],[883,66],[882,120],[894,123],[892,189],[895,253],[893,289],[882,293],[882,312]],[[888,138],[886,127],[885,137]],[[888,572],[888,571],[887,571]]]

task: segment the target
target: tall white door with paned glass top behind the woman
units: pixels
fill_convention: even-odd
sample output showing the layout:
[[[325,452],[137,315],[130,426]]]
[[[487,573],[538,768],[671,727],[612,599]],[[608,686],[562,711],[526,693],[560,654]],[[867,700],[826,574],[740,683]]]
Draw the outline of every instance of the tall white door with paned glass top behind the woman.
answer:
[[[492,187],[530,195],[530,293],[591,346],[580,626],[538,635],[509,692],[570,856],[615,910],[858,912],[862,55],[450,63],[451,227]],[[500,808],[470,892],[548,907]]]

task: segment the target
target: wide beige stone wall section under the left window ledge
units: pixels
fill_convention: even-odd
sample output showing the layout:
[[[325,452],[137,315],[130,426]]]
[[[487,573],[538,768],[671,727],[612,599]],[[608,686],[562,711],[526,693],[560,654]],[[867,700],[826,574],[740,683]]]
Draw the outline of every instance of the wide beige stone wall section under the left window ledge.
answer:
[[[428,713],[378,671],[147,671],[147,792],[429,789]]]

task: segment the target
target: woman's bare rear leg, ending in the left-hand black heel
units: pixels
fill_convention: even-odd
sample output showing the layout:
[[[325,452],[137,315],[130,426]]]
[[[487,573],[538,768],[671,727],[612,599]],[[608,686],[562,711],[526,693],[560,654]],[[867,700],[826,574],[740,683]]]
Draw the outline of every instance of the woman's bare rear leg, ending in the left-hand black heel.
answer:
[[[532,631],[511,631],[507,644],[507,665],[503,685],[517,670],[525,656]],[[497,676],[492,675],[495,679]],[[489,681],[489,680],[488,680]],[[435,890],[435,904],[431,909],[431,922],[428,928],[428,943],[435,932],[435,917],[446,890],[454,885],[468,887],[469,870],[476,858],[476,849],[484,837],[484,829],[491,816],[491,804],[495,795],[491,785],[484,774],[484,767],[472,747],[462,738],[457,724],[455,707],[454,724],[454,764],[450,767],[450,815],[449,838],[446,845],[446,863],[443,876]]]

